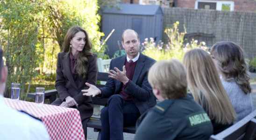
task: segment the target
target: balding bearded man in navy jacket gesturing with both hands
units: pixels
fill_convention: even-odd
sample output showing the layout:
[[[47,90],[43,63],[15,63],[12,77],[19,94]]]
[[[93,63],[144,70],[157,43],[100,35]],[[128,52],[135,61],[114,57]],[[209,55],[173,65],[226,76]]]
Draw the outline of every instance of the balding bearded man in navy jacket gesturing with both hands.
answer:
[[[111,60],[106,85],[99,89],[85,83],[90,88],[82,90],[86,96],[108,98],[100,115],[101,140],[122,140],[123,126],[135,125],[139,116],[156,104],[148,82],[148,70],[156,61],[139,52],[140,40],[134,30],[123,32],[122,46],[126,55]]]

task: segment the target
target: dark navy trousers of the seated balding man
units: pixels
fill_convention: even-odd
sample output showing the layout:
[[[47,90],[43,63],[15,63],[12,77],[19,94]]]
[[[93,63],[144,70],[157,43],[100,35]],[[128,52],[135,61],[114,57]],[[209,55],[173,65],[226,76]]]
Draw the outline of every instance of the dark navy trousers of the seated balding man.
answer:
[[[101,110],[101,140],[123,140],[123,126],[134,126],[140,112],[134,102],[112,95]]]

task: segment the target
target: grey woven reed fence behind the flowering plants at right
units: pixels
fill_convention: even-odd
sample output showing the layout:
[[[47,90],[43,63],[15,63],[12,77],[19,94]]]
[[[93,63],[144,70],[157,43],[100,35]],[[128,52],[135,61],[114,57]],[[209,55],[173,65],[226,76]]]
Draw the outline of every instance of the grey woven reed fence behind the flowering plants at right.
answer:
[[[179,30],[184,31],[185,24],[188,38],[205,41],[208,47],[214,42],[233,41],[245,51],[246,57],[256,57],[256,13],[228,12],[204,9],[162,8],[165,28],[179,21]],[[162,40],[168,42],[163,33]]]

